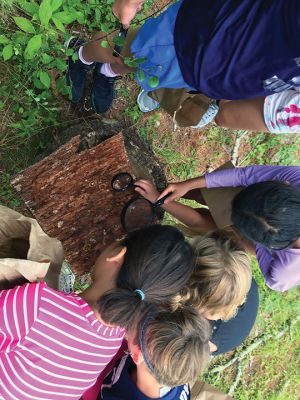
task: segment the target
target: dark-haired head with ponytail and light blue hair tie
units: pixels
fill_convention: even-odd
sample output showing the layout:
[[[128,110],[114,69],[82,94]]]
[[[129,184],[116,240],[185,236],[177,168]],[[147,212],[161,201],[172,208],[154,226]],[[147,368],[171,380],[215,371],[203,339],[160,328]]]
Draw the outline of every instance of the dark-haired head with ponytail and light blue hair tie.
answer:
[[[154,225],[131,233],[116,289],[98,301],[101,318],[135,329],[153,304],[168,303],[193,271],[193,250],[178,229]]]

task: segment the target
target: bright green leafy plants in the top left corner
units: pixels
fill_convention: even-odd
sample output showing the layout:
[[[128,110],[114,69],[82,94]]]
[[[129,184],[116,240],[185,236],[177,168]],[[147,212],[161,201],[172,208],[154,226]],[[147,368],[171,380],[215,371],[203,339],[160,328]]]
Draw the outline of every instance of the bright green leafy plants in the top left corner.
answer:
[[[7,4],[5,4],[7,3]],[[13,129],[20,137],[35,134],[42,126],[59,123],[60,95],[66,95],[66,57],[77,54],[63,43],[72,29],[87,33],[101,27],[119,27],[113,0],[2,0],[7,21],[0,21],[0,60],[7,64],[9,81],[3,80],[0,98],[12,104]],[[104,42],[105,43],[105,42]],[[102,44],[103,45],[103,44]],[[105,44],[104,46],[105,47]],[[2,82],[3,82],[2,81]]]

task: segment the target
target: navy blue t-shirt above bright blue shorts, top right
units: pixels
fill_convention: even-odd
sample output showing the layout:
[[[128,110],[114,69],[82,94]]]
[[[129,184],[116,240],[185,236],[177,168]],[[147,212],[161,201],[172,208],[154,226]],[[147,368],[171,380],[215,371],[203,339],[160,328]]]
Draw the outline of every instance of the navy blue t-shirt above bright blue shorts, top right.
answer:
[[[300,86],[299,0],[184,0],[174,43],[184,80],[211,98]]]

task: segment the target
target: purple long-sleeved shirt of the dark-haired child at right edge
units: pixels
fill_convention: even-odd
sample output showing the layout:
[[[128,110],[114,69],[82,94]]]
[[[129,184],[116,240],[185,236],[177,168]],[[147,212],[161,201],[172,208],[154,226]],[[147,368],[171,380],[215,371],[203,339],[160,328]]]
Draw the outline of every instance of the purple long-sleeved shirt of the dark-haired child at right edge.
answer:
[[[254,165],[205,175],[206,187],[249,186],[256,182],[287,181],[300,187],[300,167]],[[284,292],[300,284],[300,249],[268,250],[256,244],[256,257],[267,285]]]

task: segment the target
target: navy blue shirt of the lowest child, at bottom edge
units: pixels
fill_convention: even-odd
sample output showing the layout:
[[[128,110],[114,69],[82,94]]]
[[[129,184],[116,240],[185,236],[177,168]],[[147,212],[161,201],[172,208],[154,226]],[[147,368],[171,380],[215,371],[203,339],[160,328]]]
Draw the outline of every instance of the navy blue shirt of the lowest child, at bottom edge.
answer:
[[[130,356],[121,358],[110,374],[104,379],[97,400],[156,400],[145,396],[130,377],[135,368]],[[157,400],[189,400],[188,385],[177,386]]]

